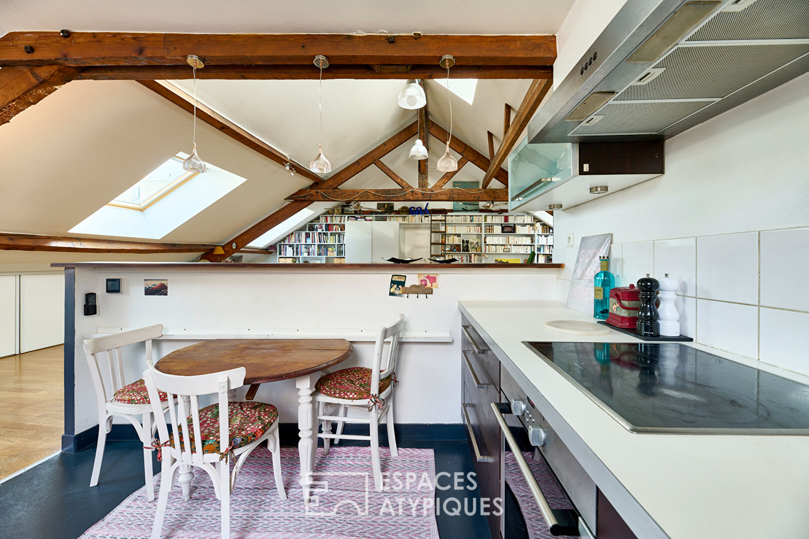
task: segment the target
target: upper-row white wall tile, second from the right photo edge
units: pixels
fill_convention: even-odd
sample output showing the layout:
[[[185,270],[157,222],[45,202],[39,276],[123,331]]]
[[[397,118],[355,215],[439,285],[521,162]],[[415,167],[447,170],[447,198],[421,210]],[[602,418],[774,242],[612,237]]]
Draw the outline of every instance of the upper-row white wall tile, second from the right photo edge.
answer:
[[[697,238],[697,297],[758,304],[758,233]]]

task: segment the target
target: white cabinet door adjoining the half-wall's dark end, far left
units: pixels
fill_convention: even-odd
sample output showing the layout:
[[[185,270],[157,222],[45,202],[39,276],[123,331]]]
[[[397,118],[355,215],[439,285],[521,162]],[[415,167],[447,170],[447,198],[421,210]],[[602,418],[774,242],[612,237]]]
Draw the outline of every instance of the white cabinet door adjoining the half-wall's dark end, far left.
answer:
[[[23,275],[19,280],[19,352],[31,352],[65,340],[65,276]]]

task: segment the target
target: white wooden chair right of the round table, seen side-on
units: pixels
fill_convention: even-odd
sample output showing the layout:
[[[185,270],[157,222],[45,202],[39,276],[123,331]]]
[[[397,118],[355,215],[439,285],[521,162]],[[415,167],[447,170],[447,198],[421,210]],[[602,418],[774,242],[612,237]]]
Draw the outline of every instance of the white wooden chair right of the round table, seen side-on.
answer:
[[[374,363],[372,368],[350,367],[320,377],[315,385],[312,398],[317,403],[316,429],[323,424],[324,453],[328,455],[329,443],[335,444],[341,438],[347,440],[371,440],[371,465],[374,470],[374,486],[381,492],[382,470],[379,465],[379,422],[384,419],[388,425],[388,445],[391,456],[397,457],[396,435],[393,432],[393,386],[396,385],[396,356],[399,352],[399,337],[404,326],[404,314],[392,326],[379,326],[376,334]],[[385,341],[388,353],[383,361]],[[352,417],[348,412],[360,411],[365,417]],[[337,415],[334,413],[337,412]],[[337,423],[337,431],[332,434],[332,423]],[[345,423],[365,423],[371,428],[370,436],[343,434]]]

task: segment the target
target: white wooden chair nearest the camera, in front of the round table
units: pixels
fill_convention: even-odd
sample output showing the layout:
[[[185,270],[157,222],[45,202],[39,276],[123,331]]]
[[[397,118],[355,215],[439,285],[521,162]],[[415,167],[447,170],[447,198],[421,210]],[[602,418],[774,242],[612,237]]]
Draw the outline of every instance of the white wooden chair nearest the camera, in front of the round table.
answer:
[[[222,502],[222,539],[231,537],[231,493],[244,461],[262,442],[273,453],[273,473],[278,498],[286,499],[281,474],[281,445],[278,440],[278,411],[265,402],[228,402],[228,392],[244,385],[244,367],[199,376],[160,373],[150,365],[143,373],[153,404],[159,434],[162,473],[152,539],[159,539],[166,514],[168,493],[180,466],[205,470],[214,482],[216,497]],[[172,432],[156,404],[159,391],[165,391]],[[201,395],[216,394],[218,403],[200,408]],[[219,413],[225,410],[227,413]],[[238,457],[231,474],[231,455]]]

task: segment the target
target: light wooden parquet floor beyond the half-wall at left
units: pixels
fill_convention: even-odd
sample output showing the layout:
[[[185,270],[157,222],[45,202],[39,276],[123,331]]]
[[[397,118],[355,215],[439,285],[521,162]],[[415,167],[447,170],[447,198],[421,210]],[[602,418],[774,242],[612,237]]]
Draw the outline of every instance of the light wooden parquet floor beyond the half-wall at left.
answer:
[[[61,448],[63,373],[61,345],[0,358],[0,478]]]

